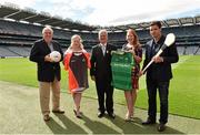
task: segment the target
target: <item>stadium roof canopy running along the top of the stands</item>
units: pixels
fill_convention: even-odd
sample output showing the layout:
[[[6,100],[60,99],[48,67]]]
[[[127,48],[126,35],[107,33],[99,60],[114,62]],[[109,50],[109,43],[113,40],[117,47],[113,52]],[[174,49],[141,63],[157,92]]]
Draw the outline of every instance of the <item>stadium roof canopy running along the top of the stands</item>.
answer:
[[[131,24],[116,25],[116,27],[89,25],[77,21],[74,22],[71,19],[62,19],[59,15],[52,17],[48,12],[38,13],[34,9],[30,9],[30,8],[20,9],[17,4],[12,4],[12,3],[0,4],[0,18],[13,19],[16,21],[26,21],[28,23],[52,25],[54,28],[61,28],[72,31],[74,30],[84,31],[84,32],[86,31],[97,32],[99,29],[107,29],[108,31],[111,32],[118,32],[118,31],[120,32],[120,31],[126,31],[129,28],[132,28],[134,30],[146,30],[150,25],[150,22],[131,23]],[[163,28],[194,25],[194,24],[200,24],[200,15],[162,20],[161,23]]]

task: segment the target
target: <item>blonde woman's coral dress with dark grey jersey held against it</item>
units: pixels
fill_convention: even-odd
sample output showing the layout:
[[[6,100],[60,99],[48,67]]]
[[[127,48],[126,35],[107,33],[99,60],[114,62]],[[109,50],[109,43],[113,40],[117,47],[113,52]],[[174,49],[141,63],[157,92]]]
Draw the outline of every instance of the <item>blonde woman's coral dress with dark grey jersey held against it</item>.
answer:
[[[90,54],[86,51],[67,52],[63,62],[64,70],[69,71],[70,93],[81,93],[88,89],[88,68],[90,68]]]

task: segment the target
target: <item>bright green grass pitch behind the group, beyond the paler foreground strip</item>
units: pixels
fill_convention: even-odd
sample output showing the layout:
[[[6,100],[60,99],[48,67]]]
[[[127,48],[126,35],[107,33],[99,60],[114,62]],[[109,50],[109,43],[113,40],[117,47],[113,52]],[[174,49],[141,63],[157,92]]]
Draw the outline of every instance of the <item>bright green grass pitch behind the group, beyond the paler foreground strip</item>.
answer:
[[[0,59],[0,80],[38,86],[37,65],[28,59]],[[62,66],[62,92],[68,92],[68,74]],[[90,79],[90,77],[89,77]],[[94,83],[89,80],[90,87],[83,96],[97,98]],[[170,82],[169,112],[170,114],[200,118],[200,55],[180,56],[178,63],[173,64],[173,79]],[[114,102],[126,104],[124,94],[114,90]],[[147,110],[147,90],[144,76],[140,79],[140,91],[138,93],[137,107]],[[157,100],[159,101],[159,98]],[[159,110],[159,104],[158,104]]]

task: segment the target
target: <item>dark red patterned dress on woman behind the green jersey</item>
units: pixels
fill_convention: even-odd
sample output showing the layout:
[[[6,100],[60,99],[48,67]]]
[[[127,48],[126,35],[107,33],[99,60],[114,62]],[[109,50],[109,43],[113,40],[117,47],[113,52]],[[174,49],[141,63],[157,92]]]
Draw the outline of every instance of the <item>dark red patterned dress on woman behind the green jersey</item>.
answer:
[[[123,51],[130,51],[132,50],[132,48],[130,48],[128,44],[124,44],[122,46]],[[142,58],[142,48],[138,46],[134,49],[134,54],[137,56]],[[138,90],[139,89],[139,71],[140,71],[140,63],[137,62],[137,60],[134,59],[136,65],[132,68],[132,72],[131,72],[131,79],[132,79],[132,89],[133,90]]]

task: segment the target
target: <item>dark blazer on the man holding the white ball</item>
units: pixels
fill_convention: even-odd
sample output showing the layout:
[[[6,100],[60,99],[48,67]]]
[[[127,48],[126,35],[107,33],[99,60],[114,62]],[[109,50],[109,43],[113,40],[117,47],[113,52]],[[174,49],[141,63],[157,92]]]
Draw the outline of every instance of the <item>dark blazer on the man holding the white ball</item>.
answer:
[[[53,50],[59,51],[61,54],[61,60],[63,60],[63,52],[58,42],[52,41]],[[37,62],[38,66],[38,81],[41,82],[52,82],[54,77],[60,81],[60,63],[59,62],[46,62],[44,56],[51,53],[48,44],[44,40],[36,41],[30,53],[30,61]]]

